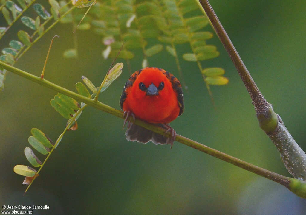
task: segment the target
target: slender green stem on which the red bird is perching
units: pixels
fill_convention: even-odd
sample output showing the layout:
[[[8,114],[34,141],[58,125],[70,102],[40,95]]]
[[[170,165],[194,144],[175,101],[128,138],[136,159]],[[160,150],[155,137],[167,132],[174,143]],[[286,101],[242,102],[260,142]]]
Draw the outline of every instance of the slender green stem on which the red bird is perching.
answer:
[[[120,110],[117,110],[117,109],[114,109],[113,107],[110,107],[110,106],[107,106],[99,101],[95,101],[94,99],[90,99],[90,98],[87,98],[85,96],[82,96],[80,94],[77,94],[73,91],[70,91],[68,89],[65,89],[61,86],[58,86],[50,81],[47,81],[45,79],[41,79],[40,77],[38,76],[35,76],[35,75],[32,75],[30,73],[27,73],[25,71],[22,71],[20,69],[17,69],[13,66],[10,66],[2,61],[0,61],[0,67],[3,68],[3,69],[6,69],[10,72],[13,72],[21,77],[24,77],[28,80],[31,80],[31,81],[34,81],[38,84],[41,84],[47,88],[50,88],[54,91],[57,91],[57,92],[60,92],[64,95],[67,95],[73,99],[76,99],[76,100],[79,100],[81,102],[84,102],[85,104],[87,105],[90,105],[96,109],[99,109],[99,110],[102,110],[106,113],[110,113],[114,116],[117,116],[121,119],[123,119],[123,112],[120,111]],[[130,120],[132,120],[132,117],[130,117]],[[150,124],[150,123],[147,123],[143,120],[140,120],[140,119],[136,119],[135,120],[135,124],[139,125],[139,126],[142,126],[142,127],[145,127],[151,131],[154,131],[158,134],[164,134],[165,133],[165,130],[162,129],[161,127],[158,127],[158,126],[155,126],[153,124]],[[166,134],[166,136],[170,134]],[[275,181],[283,186],[285,186],[286,188],[290,189],[292,192],[296,193],[297,195],[303,197],[303,198],[306,198],[306,183],[305,181],[301,181],[301,180],[297,180],[297,179],[293,179],[293,178],[289,178],[289,177],[285,177],[285,176],[282,176],[280,174],[277,174],[277,173],[274,173],[274,172],[271,172],[269,170],[265,170],[261,167],[257,167],[251,163],[247,163],[241,159],[237,159],[233,156],[230,156],[230,155],[227,155],[223,152],[220,152],[218,150],[215,150],[215,149],[212,149],[206,145],[203,145],[199,142],[196,142],[196,141],[193,141],[191,139],[188,139],[186,137],[183,137],[181,135],[178,135],[176,136],[175,140],[177,142],[180,142],[182,144],[185,144],[187,146],[190,146],[194,149],[197,149],[201,152],[204,152],[204,153],[207,153],[211,156],[214,156],[218,159],[221,159],[221,160],[224,160],[228,163],[231,163],[237,167],[241,167],[245,170],[248,170],[250,172],[253,172],[255,174],[258,174],[260,176],[263,176],[263,177],[266,177],[272,181]]]

